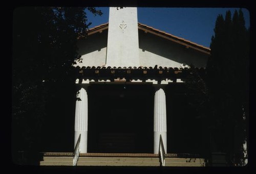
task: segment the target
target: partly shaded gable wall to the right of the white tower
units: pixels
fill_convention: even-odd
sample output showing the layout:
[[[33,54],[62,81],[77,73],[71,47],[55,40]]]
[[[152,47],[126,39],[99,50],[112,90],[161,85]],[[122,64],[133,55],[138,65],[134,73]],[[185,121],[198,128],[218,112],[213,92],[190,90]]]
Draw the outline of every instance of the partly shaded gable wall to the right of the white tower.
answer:
[[[139,57],[141,66],[180,68],[190,64],[205,67],[208,55],[139,30]]]

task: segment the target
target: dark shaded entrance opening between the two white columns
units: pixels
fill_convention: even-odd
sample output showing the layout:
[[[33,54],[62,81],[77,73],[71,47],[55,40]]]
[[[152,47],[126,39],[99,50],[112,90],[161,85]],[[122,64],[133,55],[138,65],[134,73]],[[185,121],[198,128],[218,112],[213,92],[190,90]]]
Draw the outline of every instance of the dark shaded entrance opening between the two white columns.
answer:
[[[89,153],[153,153],[151,84],[91,84],[88,99]]]

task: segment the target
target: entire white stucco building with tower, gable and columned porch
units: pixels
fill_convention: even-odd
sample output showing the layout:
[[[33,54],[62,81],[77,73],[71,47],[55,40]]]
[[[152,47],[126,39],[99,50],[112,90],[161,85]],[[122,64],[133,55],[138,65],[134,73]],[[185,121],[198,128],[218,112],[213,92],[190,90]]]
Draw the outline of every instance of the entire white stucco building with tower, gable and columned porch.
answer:
[[[194,118],[181,122],[188,111],[180,107],[187,95],[180,96],[187,92],[183,81],[191,64],[204,73],[208,47],[138,23],[135,7],[110,7],[109,22],[90,29],[78,47],[74,148],[80,135],[79,159],[158,158],[160,147],[169,160],[198,154],[202,128]],[[189,121],[198,124],[194,134]],[[204,165],[198,160],[195,166]]]

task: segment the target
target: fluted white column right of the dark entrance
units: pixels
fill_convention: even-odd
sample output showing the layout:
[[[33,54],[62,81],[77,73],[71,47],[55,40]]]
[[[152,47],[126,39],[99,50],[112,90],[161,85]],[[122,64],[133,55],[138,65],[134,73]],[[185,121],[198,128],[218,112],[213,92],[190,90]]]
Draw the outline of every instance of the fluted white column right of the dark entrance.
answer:
[[[154,154],[158,154],[159,140],[162,135],[164,150],[167,152],[166,102],[165,93],[161,86],[156,86],[154,103]]]

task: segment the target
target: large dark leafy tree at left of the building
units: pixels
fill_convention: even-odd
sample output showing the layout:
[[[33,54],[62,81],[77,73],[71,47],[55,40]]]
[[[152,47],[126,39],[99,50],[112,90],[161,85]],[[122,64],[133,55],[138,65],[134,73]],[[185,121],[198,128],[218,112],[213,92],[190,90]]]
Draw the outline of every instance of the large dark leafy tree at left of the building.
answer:
[[[13,13],[12,150],[36,151],[50,101],[75,82],[77,38],[86,35],[93,7],[20,7]],[[30,157],[28,157],[28,160]],[[32,159],[32,158],[31,158]],[[33,160],[33,159],[32,159]],[[29,162],[29,161],[27,161]]]

